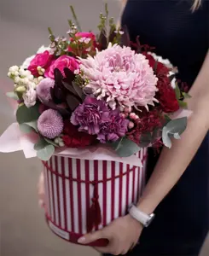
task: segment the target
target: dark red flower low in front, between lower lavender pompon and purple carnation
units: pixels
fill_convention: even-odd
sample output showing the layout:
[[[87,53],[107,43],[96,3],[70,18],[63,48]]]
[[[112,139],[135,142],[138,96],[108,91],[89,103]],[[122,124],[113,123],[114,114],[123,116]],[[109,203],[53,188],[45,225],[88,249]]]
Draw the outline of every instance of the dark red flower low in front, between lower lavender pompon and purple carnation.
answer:
[[[96,142],[96,137],[84,132],[79,132],[69,120],[64,122],[63,142],[68,148],[84,148]]]

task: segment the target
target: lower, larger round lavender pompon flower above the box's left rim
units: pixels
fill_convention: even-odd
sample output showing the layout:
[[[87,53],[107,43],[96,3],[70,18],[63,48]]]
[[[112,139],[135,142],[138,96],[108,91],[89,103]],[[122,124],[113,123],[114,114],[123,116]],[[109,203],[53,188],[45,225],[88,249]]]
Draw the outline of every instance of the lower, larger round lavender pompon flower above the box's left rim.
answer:
[[[45,110],[38,118],[38,131],[49,139],[58,137],[63,126],[61,114],[53,109]]]

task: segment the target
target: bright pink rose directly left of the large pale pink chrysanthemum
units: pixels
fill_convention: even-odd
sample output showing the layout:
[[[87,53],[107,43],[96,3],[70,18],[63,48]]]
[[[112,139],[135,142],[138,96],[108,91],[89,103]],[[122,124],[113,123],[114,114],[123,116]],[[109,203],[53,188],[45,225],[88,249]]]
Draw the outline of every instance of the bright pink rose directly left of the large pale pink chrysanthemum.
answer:
[[[54,70],[55,68],[58,68],[62,75],[65,76],[64,68],[68,67],[71,71],[75,71],[79,69],[79,63],[78,60],[76,60],[73,57],[67,56],[67,55],[61,55],[57,60],[55,60],[51,66],[49,67],[49,71],[45,73],[45,77],[48,77],[50,79],[55,79],[54,76]]]

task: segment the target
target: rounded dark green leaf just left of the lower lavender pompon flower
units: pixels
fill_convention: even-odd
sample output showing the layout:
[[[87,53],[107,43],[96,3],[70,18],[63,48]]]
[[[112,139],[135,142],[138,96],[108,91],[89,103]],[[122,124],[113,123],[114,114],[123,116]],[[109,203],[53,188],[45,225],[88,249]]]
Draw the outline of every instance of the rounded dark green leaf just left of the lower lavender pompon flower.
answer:
[[[37,120],[39,115],[38,104],[31,108],[26,108],[26,105],[22,105],[17,109],[16,119],[19,124],[30,123]]]

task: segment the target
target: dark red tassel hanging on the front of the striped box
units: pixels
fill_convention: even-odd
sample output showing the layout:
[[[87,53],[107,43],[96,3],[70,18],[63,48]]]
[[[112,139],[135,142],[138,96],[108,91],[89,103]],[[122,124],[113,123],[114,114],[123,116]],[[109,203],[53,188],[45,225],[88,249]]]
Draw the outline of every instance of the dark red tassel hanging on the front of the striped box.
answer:
[[[87,232],[91,232],[93,228],[102,223],[101,207],[99,204],[98,184],[94,183],[94,197],[91,199],[92,204],[87,212]]]

